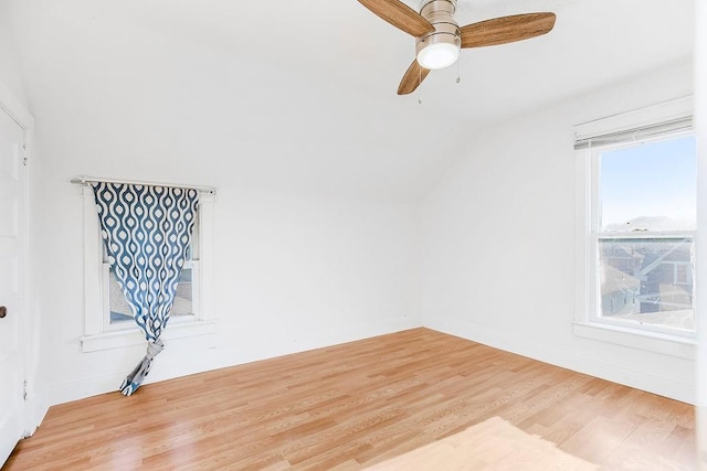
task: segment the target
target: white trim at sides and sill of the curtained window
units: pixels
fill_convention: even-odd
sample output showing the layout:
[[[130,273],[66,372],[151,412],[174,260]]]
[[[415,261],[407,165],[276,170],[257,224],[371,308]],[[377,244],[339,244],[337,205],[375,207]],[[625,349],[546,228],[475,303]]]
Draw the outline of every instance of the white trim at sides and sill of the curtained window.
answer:
[[[84,353],[99,350],[118,349],[145,343],[145,336],[137,325],[126,325],[116,330],[105,325],[103,287],[103,247],[96,203],[93,190],[82,185],[84,211],[84,335],[80,339]],[[165,340],[182,339],[215,333],[213,310],[213,202],[214,195],[209,192],[199,194],[199,267],[200,276],[194,306],[194,320],[173,322],[162,335]]]

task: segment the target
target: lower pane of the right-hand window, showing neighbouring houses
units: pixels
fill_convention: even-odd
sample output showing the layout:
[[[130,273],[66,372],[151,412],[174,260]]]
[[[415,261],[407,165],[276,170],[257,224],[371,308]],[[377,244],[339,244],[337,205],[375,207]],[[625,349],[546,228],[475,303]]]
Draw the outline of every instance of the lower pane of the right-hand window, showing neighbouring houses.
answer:
[[[692,238],[601,238],[601,315],[694,330]]]

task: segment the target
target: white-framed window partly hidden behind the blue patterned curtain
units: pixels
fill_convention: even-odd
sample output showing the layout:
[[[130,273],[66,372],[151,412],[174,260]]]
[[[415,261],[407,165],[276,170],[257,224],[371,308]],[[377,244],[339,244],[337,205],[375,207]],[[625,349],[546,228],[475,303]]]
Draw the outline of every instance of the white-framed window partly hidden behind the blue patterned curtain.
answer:
[[[115,275],[107,264],[101,239],[93,190],[82,186],[84,204],[84,352],[115,349],[145,343],[141,331],[133,320]],[[177,287],[177,299],[166,339],[179,339],[214,333],[212,308],[213,202],[210,192],[200,192],[197,221],[188,261]]]

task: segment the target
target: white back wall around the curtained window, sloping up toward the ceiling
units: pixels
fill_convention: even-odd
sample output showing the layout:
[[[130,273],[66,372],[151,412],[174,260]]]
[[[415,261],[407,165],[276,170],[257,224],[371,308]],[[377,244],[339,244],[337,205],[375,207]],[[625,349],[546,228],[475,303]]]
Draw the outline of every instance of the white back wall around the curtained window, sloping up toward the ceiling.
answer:
[[[94,2],[12,4],[43,157],[34,268],[50,404],[114,390],[144,352],[81,351],[78,175],[218,188],[217,335],[172,341],[149,381],[418,325],[412,201],[440,158],[408,136],[451,127],[419,107],[401,117],[393,94],[371,116],[373,98],[341,94],[345,71],[321,81],[287,57],[234,60],[250,38]]]

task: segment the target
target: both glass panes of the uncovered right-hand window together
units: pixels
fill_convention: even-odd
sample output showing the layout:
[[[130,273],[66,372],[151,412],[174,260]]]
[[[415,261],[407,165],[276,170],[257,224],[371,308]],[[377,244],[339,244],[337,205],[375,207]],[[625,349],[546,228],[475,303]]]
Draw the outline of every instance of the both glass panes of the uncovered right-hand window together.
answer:
[[[595,156],[597,318],[694,330],[695,138]]]

